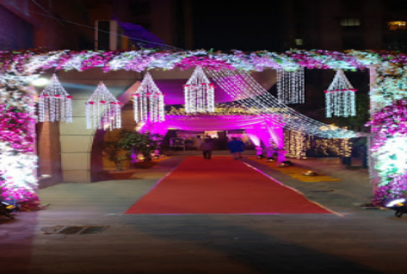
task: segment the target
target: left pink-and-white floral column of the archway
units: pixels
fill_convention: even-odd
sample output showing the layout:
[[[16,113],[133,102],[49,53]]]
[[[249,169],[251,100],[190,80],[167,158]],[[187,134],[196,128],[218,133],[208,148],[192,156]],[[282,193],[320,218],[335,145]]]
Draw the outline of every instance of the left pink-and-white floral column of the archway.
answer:
[[[30,90],[16,81],[0,87],[0,196],[16,200],[20,210],[39,207],[35,176],[37,156]]]

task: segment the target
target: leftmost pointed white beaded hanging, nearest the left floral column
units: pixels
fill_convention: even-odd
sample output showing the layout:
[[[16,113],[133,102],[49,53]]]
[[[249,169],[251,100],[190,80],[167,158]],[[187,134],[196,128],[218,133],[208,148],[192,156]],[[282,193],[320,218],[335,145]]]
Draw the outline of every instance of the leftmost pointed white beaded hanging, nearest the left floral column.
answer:
[[[72,123],[72,99],[57,75],[52,75],[48,86],[38,95],[38,120]]]

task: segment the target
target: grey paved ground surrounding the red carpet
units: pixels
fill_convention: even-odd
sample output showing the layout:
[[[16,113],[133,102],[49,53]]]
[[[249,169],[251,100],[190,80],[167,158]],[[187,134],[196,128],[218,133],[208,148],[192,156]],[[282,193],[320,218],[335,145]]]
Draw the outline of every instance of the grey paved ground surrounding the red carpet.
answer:
[[[371,195],[364,173],[304,183],[245,160],[342,216],[122,214],[182,159],[134,179],[40,190],[47,210],[0,223],[1,273],[407,273],[407,216],[355,206]],[[104,225],[99,234],[53,234]]]

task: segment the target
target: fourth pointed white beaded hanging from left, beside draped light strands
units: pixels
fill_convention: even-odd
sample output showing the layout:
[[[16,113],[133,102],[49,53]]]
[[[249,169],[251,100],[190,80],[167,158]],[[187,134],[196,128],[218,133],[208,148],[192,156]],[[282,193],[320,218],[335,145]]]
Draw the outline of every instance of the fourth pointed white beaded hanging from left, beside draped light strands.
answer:
[[[214,89],[215,86],[209,82],[202,67],[197,66],[187,84],[184,85],[185,112],[214,112]]]

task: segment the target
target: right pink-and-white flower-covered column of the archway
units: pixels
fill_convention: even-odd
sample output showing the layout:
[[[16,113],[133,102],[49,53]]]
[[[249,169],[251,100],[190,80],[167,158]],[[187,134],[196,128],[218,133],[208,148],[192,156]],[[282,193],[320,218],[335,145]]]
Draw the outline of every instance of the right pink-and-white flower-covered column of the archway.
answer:
[[[373,203],[407,194],[407,68],[383,60],[372,73],[370,151],[373,158]],[[376,178],[376,176],[375,176]]]

